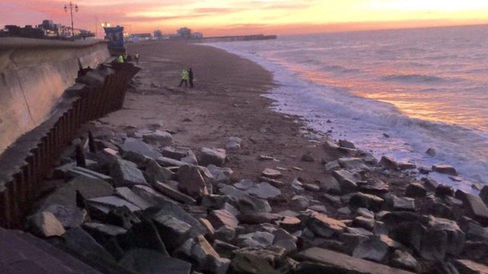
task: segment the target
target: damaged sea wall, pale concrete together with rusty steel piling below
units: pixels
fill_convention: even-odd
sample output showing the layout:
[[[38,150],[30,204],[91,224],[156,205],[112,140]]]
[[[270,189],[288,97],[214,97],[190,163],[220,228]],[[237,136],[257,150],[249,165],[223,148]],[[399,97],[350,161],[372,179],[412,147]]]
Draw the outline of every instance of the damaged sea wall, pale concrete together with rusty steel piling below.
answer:
[[[108,58],[104,41],[0,39],[1,227],[21,226],[82,123],[122,107],[139,68]]]

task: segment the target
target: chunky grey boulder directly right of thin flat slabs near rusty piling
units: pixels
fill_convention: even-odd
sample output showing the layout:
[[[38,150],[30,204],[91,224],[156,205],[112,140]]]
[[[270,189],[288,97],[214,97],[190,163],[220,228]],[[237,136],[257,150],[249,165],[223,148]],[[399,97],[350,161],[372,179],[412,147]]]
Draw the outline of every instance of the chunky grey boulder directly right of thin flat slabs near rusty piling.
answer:
[[[147,185],[144,175],[137,166],[129,161],[117,159],[110,167],[115,187],[131,187],[133,185]]]

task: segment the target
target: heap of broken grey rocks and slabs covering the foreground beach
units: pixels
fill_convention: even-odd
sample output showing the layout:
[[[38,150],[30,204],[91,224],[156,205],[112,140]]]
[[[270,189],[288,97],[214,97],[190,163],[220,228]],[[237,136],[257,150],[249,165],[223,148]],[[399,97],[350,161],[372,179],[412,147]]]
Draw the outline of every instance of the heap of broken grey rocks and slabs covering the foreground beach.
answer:
[[[487,191],[385,183],[415,167],[378,162],[346,140],[327,141],[342,156],[322,163],[316,183],[286,183],[269,168],[234,178],[226,150],[195,155],[171,140],[159,130],[95,135],[87,168],[64,159],[55,177],[67,183],[27,229],[118,273],[488,273]]]

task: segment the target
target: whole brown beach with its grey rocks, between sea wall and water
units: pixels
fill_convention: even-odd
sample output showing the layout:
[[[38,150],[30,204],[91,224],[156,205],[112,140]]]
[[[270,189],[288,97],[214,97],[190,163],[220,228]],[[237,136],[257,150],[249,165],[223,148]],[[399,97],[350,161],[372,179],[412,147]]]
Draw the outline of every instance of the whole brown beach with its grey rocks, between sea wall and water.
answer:
[[[132,261],[161,264],[148,248],[204,273],[485,268],[488,208],[481,199],[488,196],[416,180],[411,166],[375,159],[346,140],[307,138],[313,131],[298,116],[270,108],[273,100],[262,94],[276,83],[248,59],[204,45],[131,46],[142,70],[122,109],[83,126],[64,166],[45,183],[59,188],[38,201],[37,214],[52,203],[75,212],[81,204],[77,226],[128,268],[145,265],[125,264]],[[183,66],[193,68],[193,89],[177,87]],[[96,152],[88,152],[88,131]],[[80,142],[90,171],[74,167]],[[132,219],[108,218],[123,210]],[[65,212],[54,219],[65,221]],[[485,252],[471,253],[477,246]],[[134,248],[148,258],[137,258]]]

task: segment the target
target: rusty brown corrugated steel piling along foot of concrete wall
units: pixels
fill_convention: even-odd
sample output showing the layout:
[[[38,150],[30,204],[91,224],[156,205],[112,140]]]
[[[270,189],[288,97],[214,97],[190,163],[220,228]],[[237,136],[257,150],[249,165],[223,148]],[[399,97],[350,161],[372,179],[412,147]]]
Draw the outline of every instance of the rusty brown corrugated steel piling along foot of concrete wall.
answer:
[[[65,90],[47,120],[20,136],[0,155],[1,227],[21,228],[23,218],[39,195],[40,184],[76,130],[86,121],[120,109],[125,90],[139,70],[131,63],[124,63],[106,69],[99,86],[74,84]]]

